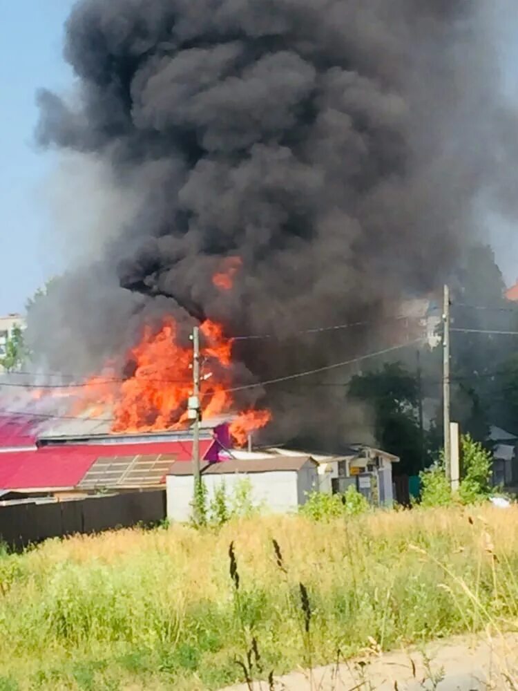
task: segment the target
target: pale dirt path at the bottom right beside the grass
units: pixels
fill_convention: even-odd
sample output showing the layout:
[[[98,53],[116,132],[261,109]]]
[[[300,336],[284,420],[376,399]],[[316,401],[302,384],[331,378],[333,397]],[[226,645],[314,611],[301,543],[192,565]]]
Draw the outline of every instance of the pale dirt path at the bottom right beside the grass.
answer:
[[[342,665],[292,672],[274,680],[276,691],[474,691],[518,689],[518,634],[452,638],[423,652],[373,655]],[[222,691],[248,691],[247,684]],[[268,691],[267,682],[253,691]]]

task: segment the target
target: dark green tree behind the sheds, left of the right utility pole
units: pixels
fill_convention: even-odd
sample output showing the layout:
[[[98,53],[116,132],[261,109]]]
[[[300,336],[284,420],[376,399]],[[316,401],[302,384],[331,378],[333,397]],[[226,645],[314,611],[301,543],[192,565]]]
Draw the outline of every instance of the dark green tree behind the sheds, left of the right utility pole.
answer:
[[[423,439],[419,429],[416,375],[401,363],[356,375],[349,396],[369,404],[374,411],[376,443],[401,458],[398,470],[412,475],[423,467]]]

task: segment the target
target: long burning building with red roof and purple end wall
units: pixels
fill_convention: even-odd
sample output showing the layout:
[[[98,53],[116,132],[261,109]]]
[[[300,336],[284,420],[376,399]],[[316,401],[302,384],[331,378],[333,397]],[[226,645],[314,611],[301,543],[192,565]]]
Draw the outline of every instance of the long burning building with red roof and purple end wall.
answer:
[[[224,422],[202,426],[200,457],[218,462],[230,444]],[[99,491],[135,491],[164,486],[177,463],[190,462],[193,436],[118,434],[92,419],[52,426],[21,417],[0,417],[0,488],[25,495],[66,498]]]

